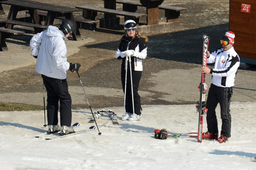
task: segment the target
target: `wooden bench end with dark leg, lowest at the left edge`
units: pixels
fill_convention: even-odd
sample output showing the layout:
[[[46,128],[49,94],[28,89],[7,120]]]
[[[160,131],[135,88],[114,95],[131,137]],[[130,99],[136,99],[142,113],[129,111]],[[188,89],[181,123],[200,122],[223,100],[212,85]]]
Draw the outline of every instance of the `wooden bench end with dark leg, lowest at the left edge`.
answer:
[[[13,29],[7,29],[7,28],[0,28],[0,51],[8,51],[8,47],[5,43],[6,34],[8,35],[18,35],[18,34],[24,34],[23,31],[17,31]]]

